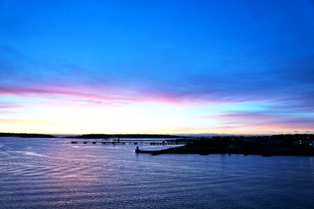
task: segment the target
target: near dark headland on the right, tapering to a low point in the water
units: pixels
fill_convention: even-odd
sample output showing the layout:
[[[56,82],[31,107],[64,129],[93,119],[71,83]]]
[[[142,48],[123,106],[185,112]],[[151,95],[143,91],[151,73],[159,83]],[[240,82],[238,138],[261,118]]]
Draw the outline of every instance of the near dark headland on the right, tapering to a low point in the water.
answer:
[[[140,150],[135,153],[160,154],[243,154],[314,156],[313,134],[286,134],[270,137],[195,138],[185,146],[163,150]]]

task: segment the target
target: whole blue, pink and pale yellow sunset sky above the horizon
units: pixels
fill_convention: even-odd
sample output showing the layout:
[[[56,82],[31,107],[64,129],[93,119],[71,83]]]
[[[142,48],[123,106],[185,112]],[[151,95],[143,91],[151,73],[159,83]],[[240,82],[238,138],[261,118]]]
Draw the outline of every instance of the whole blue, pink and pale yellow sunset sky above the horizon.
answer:
[[[314,133],[314,1],[0,0],[0,132]]]

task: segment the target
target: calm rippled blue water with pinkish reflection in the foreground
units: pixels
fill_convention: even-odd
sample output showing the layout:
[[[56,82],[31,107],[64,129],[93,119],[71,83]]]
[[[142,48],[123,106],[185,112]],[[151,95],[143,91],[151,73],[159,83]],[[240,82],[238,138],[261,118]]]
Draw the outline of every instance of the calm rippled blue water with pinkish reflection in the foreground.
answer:
[[[164,146],[140,146],[160,149]],[[313,208],[313,157],[0,138],[0,208]]]

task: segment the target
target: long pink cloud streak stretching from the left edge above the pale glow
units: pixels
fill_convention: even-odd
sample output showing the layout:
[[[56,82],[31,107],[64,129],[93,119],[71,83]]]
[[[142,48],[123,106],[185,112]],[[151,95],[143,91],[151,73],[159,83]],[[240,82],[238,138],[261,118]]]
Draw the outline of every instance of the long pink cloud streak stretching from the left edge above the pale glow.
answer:
[[[105,88],[98,86],[2,86],[1,95],[17,95],[20,97],[69,97],[69,100],[80,100],[89,103],[110,102],[113,105],[124,105],[129,102],[164,102],[200,104],[218,104],[222,101],[217,99],[206,100],[197,98],[195,95],[174,95],[163,92],[147,92],[132,88]],[[72,99],[71,99],[72,98]],[[58,99],[58,98],[57,98]]]

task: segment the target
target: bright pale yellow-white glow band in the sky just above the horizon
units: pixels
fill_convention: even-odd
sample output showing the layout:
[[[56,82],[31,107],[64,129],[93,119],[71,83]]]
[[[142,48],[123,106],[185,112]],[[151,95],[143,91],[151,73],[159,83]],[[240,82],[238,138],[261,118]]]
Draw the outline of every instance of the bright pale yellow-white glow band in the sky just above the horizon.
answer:
[[[10,107],[11,112],[3,114],[0,124],[1,132],[40,134],[280,134],[291,133],[294,129],[300,133],[311,130],[307,124],[274,121],[278,116],[225,114],[225,109],[239,111],[255,107],[256,104],[250,102],[107,105],[45,99]]]

